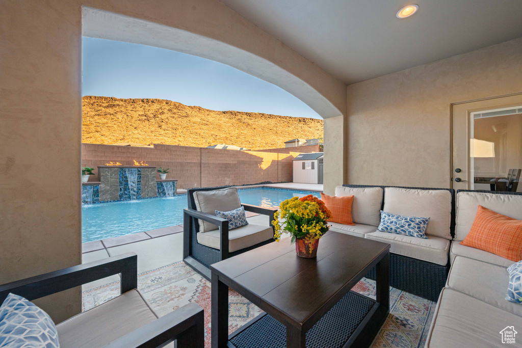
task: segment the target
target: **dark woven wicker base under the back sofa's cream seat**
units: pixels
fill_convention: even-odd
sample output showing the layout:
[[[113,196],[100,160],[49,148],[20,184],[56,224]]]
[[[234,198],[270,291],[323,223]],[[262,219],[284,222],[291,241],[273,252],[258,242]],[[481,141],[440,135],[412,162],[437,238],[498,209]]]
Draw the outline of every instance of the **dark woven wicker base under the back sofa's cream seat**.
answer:
[[[390,253],[390,286],[436,302],[448,278],[447,266]],[[366,278],[375,280],[375,268]]]

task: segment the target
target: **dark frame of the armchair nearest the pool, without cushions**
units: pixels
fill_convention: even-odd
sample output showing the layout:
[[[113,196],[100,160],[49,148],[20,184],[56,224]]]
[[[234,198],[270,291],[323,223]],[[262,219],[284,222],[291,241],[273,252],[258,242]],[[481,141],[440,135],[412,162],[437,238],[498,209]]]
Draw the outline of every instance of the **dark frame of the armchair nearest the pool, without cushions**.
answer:
[[[274,238],[270,238],[264,242],[245,247],[240,250],[229,252],[229,228],[228,220],[221,219],[215,215],[203,213],[196,209],[196,202],[194,193],[197,191],[213,191],[218,189],[228,188],[230,186],[222,187],[206,187],[206,188],[191,188],[187,190],[188,208],[183,210],[183,260],[187,265],[191,266],[198,273],[210,280],[210,265],[219,262],[229,257],[244,253],[245,251],[255,249],[262,245],[274,242]],[[277,208],[263,208],[241,203],[246,211],[253,213],[268,215],[270,218],[270,226],[274,220],[274,213]],[[209,246],[198,243],[197,234],[199,232],[198,219],[210,222],[220,226],[220,248],[211,248]]]

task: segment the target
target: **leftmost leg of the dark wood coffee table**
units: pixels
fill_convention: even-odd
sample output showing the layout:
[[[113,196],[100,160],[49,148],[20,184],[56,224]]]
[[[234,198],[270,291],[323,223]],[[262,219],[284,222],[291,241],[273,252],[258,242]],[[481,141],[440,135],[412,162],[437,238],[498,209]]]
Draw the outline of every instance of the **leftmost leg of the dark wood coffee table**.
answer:
[[[228,286],[219,280],[215,272],[212,272],[211,292],[211,347],[224,348],[228,342]]]

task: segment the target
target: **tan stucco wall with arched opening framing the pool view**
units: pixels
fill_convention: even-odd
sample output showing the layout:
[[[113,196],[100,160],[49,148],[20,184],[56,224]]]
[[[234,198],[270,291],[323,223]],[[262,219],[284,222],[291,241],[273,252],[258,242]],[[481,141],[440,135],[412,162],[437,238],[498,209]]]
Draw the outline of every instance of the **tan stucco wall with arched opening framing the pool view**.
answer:
[[[0,0],[0,283],[81,262],[82,6],[226,43],[220,56],[252,57],[235,62],[242,70],[333,115],[346,109],[345,85],[217,0]],[[60,179],[43,179],[52,169]],[[57,298],[43,305],[56,322],[79,312],[79,289]]]

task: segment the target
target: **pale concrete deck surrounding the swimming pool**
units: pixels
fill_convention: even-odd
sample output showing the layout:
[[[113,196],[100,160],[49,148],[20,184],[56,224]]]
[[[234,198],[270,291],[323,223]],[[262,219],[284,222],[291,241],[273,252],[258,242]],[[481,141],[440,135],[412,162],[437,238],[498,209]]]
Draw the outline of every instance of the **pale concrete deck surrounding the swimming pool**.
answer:
[[[323,191],[323,185],[297,183],[238,186],[238,188],[265,186],[305,191]],[[179,189],[177,193],[184,194],[186,190]],[[259,225],[269,225],[267,215],[253,214],[251,212],[246,213],[248,222]],[[171,265],[172,263],[183,260],[182,232],[183,225],[174,225],[157,230],[83,243],[82,263],[97,261],[133,251],[138,255],[138,274]],[[111,277],[82,285],[82,291],[91,290],[119,280],[119,275],[112,275]]]

